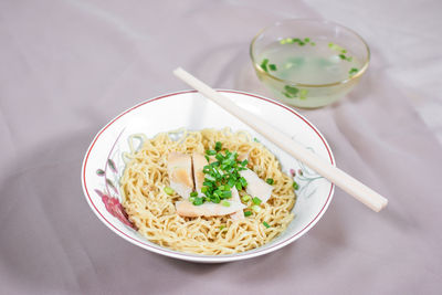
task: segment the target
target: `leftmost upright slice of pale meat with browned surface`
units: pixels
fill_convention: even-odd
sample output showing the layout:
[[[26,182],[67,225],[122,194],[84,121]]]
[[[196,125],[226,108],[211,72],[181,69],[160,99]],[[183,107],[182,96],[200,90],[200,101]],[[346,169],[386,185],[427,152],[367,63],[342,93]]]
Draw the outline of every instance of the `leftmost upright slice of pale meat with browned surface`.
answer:
[[[189,199],[193,190],[192,159],[190,155],[170,152],[167,162],[170,187],[182,198]]]

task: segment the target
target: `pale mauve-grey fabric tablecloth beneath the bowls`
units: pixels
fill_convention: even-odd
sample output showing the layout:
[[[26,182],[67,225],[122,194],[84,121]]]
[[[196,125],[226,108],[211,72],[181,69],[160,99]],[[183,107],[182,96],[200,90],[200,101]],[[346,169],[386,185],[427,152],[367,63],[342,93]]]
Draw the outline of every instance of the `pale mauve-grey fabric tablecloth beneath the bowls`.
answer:
[[[439,1],[0,1],[1,294],[441,294]],[[124,241],[90,210],[81,162],[122,110],[187,88],[264,94],[252,36],[328,18],[372,50],[340,103],[302,110],[340,168],[389,198],[373,213],[337,189],[320,222],[257,259],[201,265]]]

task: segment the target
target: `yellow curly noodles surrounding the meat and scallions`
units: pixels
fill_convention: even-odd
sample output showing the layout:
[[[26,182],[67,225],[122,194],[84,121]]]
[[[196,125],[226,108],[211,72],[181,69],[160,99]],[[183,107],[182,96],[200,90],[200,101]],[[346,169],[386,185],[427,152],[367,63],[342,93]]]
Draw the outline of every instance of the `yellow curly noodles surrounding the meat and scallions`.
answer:
[[[293,220],[295,204],[292,179],[281,171],[275,156],[262,144],[252,140],[244,131],[232,133],[203,129],[183,133],[172,140],[171,133],[159,134],[144,143],[143,147],[126,154],[128,160],[120,187],[123,206],[130,221],[149,241],[172,250],[206,255],[232,254],[261,246],[282,233]],[[168,196],[167,158],[170,151],[203,154],[213,149],[217,141],[223,148],[249,154],[249,168],[260,178],[273,178],[271,199],[262,204],[259,213],[234,221],[229,215],[212,218],[182,218],[176,213],[178,194]],[[245,192],[241,191],[241,196]],[[248,204],[251,206],[251,202]],[[248,210],[248,209],[245,209]],[[249,209],[250,210],[250,209]],[[270,228],[264,226],[263,222]],[[223,228],[223,226],[225,228]]]

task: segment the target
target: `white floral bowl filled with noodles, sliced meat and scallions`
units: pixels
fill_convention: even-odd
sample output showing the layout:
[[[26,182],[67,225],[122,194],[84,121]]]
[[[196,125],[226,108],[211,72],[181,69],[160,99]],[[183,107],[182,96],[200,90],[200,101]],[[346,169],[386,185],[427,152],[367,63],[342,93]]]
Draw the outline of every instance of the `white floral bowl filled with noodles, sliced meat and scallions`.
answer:
[[[319,130],[259,95],[221,91],[335,165]],[[84,196],[128,242],[201,263],[260,256],[305,234],[334,185],[194,91],[143,102],[104,126],[82,166]]]

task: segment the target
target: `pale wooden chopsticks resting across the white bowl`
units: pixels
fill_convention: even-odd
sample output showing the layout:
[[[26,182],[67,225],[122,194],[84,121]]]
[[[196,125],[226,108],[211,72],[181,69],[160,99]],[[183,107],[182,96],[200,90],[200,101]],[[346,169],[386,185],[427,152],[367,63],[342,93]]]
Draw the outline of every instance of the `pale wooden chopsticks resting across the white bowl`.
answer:
[[[368,188],[360,181],[356,180],[351,176],[347,175],[339,168],[336,168],[320,159],[302,145],[292,140],[292,138],[290,138],[287,135],[256,118],[252,113],[249,113],[248,110],[235,105],[227,96],[206,85],[181,67],[175,70],[173,74],[191,87],[196,88],[203,96],[228,110],[244,124],[249,125],[252,129],[263,135],[266,139],[274,143],[277,147],[304,162],[318,175],[325,177],[337,187],[356,198],[358,201],[369,207],[371,210],[379,212],[387,206],[388,200],[386,198]]]

